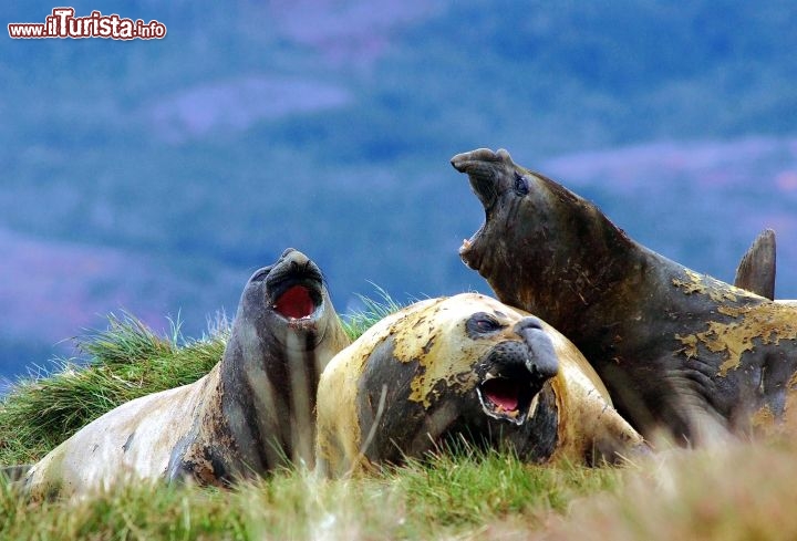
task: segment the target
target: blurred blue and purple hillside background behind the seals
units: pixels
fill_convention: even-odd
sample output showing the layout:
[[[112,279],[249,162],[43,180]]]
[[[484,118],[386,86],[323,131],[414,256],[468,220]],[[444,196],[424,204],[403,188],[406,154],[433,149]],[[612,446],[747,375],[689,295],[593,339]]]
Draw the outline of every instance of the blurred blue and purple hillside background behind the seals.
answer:
[[[7,2],[3,23],[55,4]],[[297,247],[339,312],[488,291],[457,257],[475,147],[718,278],[764,227],[797,298],[786,1],[71,3],[164,40],[0,40],[0,374],[124,308],[197,335]]]

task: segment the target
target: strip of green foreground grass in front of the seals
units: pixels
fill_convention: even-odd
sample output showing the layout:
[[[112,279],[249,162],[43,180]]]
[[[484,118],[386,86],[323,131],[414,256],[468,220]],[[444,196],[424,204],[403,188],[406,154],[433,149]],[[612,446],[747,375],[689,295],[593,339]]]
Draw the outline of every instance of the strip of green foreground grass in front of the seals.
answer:
[[[611,489],[618,478],[618,470],[545,468],[473,452],[349,480],[281,471],[231,491],[138,486],[77,502],[33,503],[6,490],[0,538],[435,539],[477,532],[509,516],[537,528],[551,510]]]

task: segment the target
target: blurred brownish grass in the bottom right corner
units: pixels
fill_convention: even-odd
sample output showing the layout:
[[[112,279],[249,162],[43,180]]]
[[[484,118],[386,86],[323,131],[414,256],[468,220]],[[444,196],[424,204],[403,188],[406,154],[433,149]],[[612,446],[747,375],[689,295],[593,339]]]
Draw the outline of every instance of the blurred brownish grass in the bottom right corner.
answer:
[[[628,476],[622,491],[584,498],[556,517],[546,539],[797,539],[797,441],[778,447],[669,451]]]

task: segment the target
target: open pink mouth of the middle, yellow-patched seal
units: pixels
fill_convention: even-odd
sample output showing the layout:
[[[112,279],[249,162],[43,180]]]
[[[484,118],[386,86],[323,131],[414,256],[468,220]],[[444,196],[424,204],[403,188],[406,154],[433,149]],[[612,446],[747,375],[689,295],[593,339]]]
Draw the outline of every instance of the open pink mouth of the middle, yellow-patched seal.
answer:
[[[541,385],[525,366],[494,367],[476,387],[484,412],[496,419],[521,425]]]

